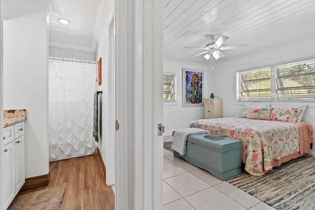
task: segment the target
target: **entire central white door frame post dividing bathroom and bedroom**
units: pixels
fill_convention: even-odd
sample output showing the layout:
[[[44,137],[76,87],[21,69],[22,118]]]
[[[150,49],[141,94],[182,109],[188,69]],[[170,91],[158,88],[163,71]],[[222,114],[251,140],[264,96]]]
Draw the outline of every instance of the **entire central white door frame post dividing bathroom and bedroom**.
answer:
[[[116,0],[116,209],[160,210],[163,195],[163,29],[159,0]],[[154,50],[153,50],[154,49]]]

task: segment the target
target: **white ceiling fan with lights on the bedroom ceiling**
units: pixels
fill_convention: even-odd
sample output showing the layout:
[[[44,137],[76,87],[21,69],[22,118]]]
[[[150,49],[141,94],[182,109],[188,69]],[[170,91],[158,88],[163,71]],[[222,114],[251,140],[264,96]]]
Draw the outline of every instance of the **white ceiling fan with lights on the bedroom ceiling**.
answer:
[[[220,58],[225,57],[223,53],[219,50],[230,50],[230,49],[236,49],[241,46],[246,46],[248,44],[239,44],[239,45],[231,45],[231,46],[221,46],[229,37],[227,36],[220,36],[217,41],[215,41],[216,35],[207,35],[207,37],[210,37],[212,39],[212,42],[206,44],[205,47],[184,47],[184,48],[194,48],[194,49],[202,49],[206,50],[204,52],[198,53],[194,56],[191,56],[190,58],[196,57],[198,55],[205,54],[205,59],[209,60],[209,58],[212,56],[214,59],[218,60]]]

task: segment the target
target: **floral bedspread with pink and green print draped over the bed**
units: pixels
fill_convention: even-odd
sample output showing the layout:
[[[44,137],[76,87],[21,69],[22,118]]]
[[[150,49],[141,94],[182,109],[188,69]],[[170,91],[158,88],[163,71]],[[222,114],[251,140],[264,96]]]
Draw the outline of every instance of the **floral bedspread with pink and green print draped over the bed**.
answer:
[[[250,175],[272,170],[271,162],[300,151],[299,127],[293,123],[242,117],[200,119],[189,127],[242,141],[242,163]]]

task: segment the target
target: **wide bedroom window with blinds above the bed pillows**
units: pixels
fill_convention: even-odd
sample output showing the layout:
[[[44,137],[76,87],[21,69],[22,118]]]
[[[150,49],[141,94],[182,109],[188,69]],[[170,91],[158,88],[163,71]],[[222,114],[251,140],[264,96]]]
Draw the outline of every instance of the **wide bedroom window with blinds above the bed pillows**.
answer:
[[[315,101],[315,60],[236,73],[237,101]]]

